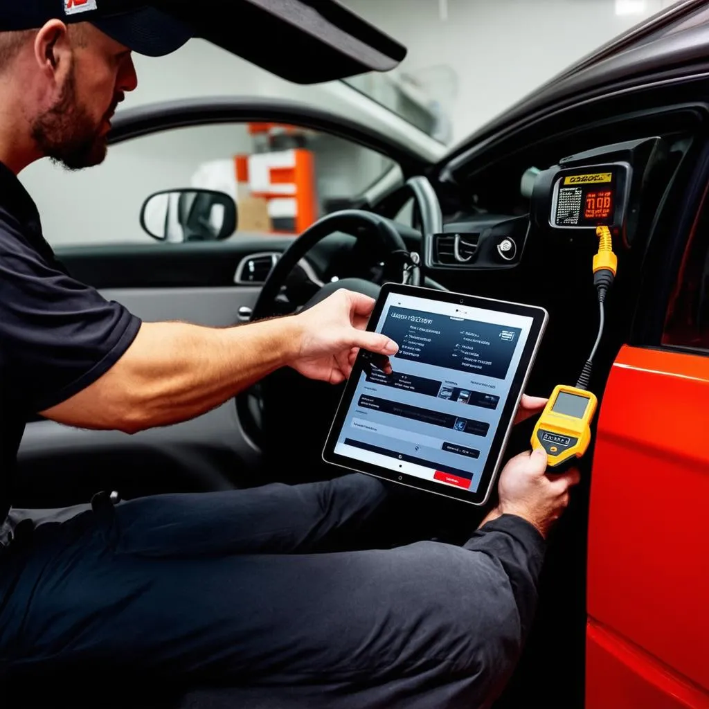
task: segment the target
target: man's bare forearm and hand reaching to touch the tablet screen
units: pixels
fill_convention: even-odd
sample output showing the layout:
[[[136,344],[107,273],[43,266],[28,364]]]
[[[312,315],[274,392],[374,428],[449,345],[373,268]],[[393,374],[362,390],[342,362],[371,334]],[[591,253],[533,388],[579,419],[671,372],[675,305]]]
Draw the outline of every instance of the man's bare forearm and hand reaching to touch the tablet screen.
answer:
[[[337,291],[298,316],[235,328],[143,323],[103,376],[42,414],[79,428],[135,433],[210,411],[279,367],[337,384],[358,347],[394,354],[384,335],[365,332],[374,300]]]

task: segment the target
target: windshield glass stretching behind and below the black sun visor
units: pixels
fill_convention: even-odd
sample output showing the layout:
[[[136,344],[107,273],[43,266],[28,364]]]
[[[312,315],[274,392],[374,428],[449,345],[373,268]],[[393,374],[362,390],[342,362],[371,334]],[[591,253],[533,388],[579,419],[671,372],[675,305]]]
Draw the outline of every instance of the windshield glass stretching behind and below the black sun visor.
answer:
[[[367,125],[437,162],[537,86],[674,0],[342,0],[408,48],[401,65],[294,84],[206,40],[135,56],[123,106],[201,96],[291,99]],[[579,28],[583,28],[579,32]],[[371,175],[370,183],[388,176]]]

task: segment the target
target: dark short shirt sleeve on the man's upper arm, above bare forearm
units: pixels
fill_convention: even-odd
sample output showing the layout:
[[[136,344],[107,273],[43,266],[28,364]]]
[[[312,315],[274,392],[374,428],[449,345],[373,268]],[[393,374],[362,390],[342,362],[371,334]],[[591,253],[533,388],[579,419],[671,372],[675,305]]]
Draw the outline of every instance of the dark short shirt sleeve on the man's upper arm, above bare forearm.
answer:
[[[0,355],[26,413],[56,406],[99,379],[128,350],[140,324],[3,225]]]

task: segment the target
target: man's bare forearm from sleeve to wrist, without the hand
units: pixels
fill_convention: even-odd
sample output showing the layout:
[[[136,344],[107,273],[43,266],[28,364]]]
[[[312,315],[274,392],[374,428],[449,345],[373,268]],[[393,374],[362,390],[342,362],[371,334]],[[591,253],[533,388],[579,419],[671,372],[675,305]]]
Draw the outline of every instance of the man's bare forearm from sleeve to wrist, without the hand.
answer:
[[[294,357],[293,318],[218,330],[143,323],[100,379],[42,414],[79,428],[135,433],[194,418]]]

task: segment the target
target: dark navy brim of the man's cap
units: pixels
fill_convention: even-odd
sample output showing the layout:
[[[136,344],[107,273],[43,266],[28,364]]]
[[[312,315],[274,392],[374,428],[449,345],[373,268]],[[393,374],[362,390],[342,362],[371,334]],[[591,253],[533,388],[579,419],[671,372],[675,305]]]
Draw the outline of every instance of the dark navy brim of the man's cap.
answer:
[[[193,36],[184,23],[152,7],[104,17],[91,24],[147,57],[164,57],[175,52]]]

